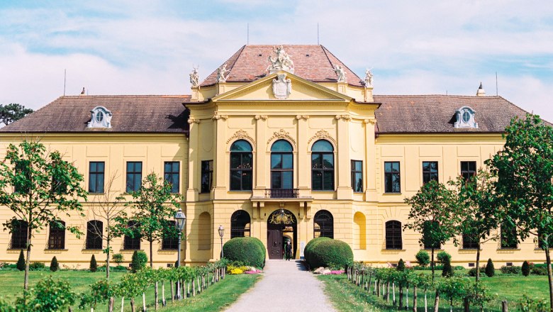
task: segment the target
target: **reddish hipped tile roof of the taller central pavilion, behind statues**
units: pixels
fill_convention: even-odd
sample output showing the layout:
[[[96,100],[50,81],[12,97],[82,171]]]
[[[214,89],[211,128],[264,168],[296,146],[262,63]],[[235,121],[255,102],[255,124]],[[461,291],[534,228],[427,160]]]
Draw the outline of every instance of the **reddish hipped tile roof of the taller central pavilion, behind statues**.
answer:
[[[345,67],[348,84],[363,86],[362,79],[323,45],[283,45],[283,48],[294,62],[294,74],[303,79],[312,82],[336,82],[334,65],[340,65]],[[274,57],[273,50],[274,45],[244,45],[223,62],[229,70],[227,82],[252,82],[267,75],[267,67],[271,65],[269,56]],[[217,69],[200,85],[204,87],[216,82]]]

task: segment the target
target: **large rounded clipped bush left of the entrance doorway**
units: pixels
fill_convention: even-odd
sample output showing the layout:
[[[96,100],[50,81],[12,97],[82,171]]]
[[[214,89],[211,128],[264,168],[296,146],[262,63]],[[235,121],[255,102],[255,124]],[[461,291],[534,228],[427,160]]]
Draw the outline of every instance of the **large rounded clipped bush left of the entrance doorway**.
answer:
[[[225,259],[253,267],[265,266],[265,246],[257,238],[233,238],[223,245]]]

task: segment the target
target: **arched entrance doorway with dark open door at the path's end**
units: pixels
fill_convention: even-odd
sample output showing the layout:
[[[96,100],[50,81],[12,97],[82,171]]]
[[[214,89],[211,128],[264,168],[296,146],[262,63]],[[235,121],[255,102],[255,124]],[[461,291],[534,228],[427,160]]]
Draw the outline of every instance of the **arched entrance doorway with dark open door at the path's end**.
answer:
[[[284,208],[273,211],[267,218],[267,252],[269,259],[282,259],[284,256],[284,240],[292,238],[292,257],[296,258],[297,221],[291,211]]]

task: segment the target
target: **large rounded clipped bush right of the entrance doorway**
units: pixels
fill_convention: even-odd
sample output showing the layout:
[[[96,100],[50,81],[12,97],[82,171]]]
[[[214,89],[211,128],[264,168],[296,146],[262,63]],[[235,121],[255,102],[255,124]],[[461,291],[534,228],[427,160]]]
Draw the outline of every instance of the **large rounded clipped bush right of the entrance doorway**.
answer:
[[[319,240],[311,247],[310,267],[346,267],[353,262],[353,251],[350,245],[341,240]]]

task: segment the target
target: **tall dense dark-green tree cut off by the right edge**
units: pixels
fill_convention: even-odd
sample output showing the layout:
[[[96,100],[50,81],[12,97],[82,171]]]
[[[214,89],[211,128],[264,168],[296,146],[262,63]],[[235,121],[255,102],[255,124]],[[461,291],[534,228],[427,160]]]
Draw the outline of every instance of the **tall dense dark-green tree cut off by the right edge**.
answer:
[[[537,236],[544,250],[553,310],[550,245],[553,238],[553,128],[540,116],[513,118],[505,128],[505,145],[486,165],[498,176],[496,191],[503,196],[505,221],[515,225],[520,239]]]

